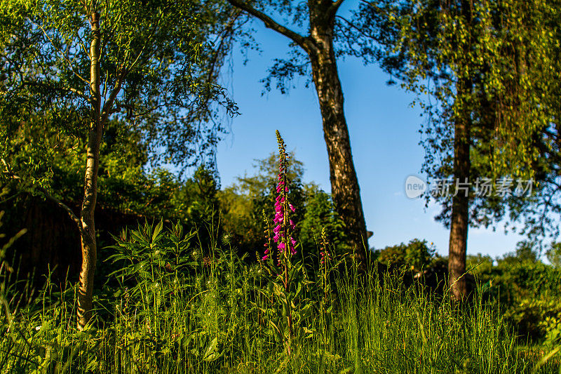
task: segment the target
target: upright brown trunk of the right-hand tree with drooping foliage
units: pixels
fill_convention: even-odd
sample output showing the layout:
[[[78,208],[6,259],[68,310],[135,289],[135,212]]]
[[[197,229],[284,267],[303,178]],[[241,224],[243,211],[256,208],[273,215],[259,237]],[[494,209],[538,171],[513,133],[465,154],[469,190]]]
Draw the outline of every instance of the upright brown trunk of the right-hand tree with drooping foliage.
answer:
[[[457,97],[470,86],[466,79],[457,84]],[[471,118],[469,113],[458,115],[454,129],[454,182],[470,179]],[[466,196],[467,195],[467,196]],[[450,246],[448,256],[448,281],[452,298],[464,300],[466,289],[466,251],[469,225],[469,194],[457,191],[452,197],[452,220],[450,221]]]

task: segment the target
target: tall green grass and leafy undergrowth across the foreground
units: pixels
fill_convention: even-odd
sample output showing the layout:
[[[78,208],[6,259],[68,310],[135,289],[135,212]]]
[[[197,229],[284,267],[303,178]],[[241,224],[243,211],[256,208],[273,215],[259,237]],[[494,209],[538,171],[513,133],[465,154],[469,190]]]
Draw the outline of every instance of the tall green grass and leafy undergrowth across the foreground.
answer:
[[[518,352],[496,305],[454,305],[352,263],[328,295],[306,273],[287,354],[264,264],[238,258],[227,241],[200,243],[179,226],[123,234],[111,296],[98,296],[82,332],[72,286],[47,281],[27,305],[6,303],[1,373],[561,373],[558,355],[540,363]]]

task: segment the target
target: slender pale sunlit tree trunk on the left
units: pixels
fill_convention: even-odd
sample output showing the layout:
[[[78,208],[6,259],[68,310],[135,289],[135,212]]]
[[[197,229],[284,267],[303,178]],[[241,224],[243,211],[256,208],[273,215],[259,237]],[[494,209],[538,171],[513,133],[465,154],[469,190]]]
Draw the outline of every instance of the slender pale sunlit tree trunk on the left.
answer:
[[[92,99],[88,154],[81,208],[82,267],[78,293],[78,328],[82,330],[92,316],[93,275],[97,260],[94,210],[97,199],[97,170],[102,137],[100,96],[100,15],[92,14],[93,39],[90,44],[90,95]]]

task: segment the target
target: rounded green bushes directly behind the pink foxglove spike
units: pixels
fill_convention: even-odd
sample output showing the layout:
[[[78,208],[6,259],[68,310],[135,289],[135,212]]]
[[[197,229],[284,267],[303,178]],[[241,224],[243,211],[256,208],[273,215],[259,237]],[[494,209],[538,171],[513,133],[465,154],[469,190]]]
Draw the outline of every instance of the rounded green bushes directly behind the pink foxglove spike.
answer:
[[[329,194],[319,189],[313,182],[304,183],[304,165],[290,153],[290,171],[288,179],[292,188],[290,201],[299,206],[293,220],[296,223],[297,239],[302,248],[311,251],[318,248],[319,234],[322,227],[327,229],[330,241],[336,244],[339,253],[346,253],[344,243],[344,226],[335,213]],[[230,232],[234,245],[241,252],[255,253],[262,251],[264,244],[264,223],[262,212],[265,211],[272,221],[272,207],[276,196],[276,166],[278,156],[271,154],[266,159],[256,160],[254,175],[239,177],[238,181],[218,192],[219,206],[222,211],[222,225],[225,232]]]

